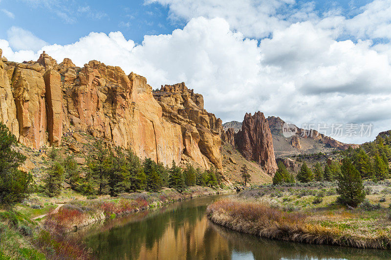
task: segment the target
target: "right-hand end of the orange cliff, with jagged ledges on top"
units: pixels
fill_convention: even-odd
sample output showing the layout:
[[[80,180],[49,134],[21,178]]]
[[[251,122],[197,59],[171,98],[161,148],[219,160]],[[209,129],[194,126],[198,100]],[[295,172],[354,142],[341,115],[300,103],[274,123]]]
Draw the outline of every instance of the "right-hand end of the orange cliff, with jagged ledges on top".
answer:
[[[180,127],[184,147],[182,160],[196,161],[204,168],[209,168],[212,162],[221,169],[221,120],[204,109],[202,95],[182,82],[164,85],[154,91],[153,96],[162,107],[163,118]]]

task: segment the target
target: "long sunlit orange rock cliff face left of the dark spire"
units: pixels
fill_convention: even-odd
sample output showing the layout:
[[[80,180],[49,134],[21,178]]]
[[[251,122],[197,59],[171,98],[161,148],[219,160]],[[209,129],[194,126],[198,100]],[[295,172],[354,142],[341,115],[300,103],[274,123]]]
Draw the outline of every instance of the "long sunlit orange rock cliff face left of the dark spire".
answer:
[[[0,50],[0,57],[2,53]],[[83,68],[43,54],[23,63],[0,60],[0,120],[22,144],[60,145],[84,131],[165,165],[221,168],[221,120],[184,83],[152,96],[147,80],[92,60]]]

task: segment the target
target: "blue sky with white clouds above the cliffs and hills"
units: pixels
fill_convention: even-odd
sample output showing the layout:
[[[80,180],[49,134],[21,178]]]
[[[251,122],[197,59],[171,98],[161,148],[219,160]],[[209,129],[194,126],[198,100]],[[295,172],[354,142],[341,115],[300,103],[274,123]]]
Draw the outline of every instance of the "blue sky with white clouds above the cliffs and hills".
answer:
[[[0,14],[8,60],[45,50],[184,81],[224,122],[260,110],[354,128],[336,136],[354,143],[391,129],[391,0],[0,0]]]

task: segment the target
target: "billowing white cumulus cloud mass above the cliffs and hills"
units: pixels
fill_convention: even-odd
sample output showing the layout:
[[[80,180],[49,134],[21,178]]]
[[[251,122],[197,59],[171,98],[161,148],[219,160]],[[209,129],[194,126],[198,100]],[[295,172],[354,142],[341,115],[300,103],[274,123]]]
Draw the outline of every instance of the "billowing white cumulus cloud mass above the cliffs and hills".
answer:
[[[391,48],[368,39],[336,40],[336,29],[325,23],[300,21],[251,40],[223,18],[198,17],[171,34],[145,36],[140,45],[111,32],[38,51],[17,51],[7,40],[0,40],[0,48],[16,61],[37,60],[43,50],[78,66],[100,60],[145,76],[153,88],[185,81],[223,121],[261,110],[298,125],[372,123],[371,137],[337,138],[371,140],[391,128]]]

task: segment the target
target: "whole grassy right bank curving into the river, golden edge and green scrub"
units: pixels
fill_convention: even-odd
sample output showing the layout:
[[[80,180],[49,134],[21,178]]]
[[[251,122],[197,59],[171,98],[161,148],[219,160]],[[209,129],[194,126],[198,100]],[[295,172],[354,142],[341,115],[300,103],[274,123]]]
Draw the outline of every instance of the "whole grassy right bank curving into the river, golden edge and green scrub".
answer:
[[[358,248],[391,248],[390,183],[366,183],[368,199],[356,209],[335,202],[333,183],[263,186],[218,200],[213,222],[263,238]],[[382,202],[379,202],[382,201]]]

